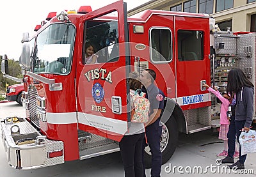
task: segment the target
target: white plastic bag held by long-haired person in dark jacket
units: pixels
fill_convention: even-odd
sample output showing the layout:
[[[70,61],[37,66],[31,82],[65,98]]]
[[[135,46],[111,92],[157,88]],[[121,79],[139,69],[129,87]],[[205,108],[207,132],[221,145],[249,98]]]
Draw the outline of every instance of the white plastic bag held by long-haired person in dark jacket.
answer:
[[[242,132],[239,136],[241,146],[241,155],[247,153],[256,153],[256,132],[249,130],[249,132]]]

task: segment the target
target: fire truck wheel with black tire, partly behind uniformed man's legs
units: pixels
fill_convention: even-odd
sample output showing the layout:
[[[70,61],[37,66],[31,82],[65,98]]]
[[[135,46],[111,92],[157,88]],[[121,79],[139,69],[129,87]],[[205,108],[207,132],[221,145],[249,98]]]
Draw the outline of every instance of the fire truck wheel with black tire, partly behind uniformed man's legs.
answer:
[[[161,152],[162,152],[162,164],[168,162],[172,157],[179,139],[179,128],[177,122],[173,116],[168,119],[168,121],[163,124],[162,127],[162,137],[161,137]],[[151,167],[151,152],[149,146],[145,148],[144,162],[145,167]]]

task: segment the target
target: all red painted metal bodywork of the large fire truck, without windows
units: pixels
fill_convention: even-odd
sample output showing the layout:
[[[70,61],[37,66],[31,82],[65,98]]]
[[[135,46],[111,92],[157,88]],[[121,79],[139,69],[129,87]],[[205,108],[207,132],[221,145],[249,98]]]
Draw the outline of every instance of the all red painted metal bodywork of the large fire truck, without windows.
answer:
[[[126,82],[125,82],[125,46],[120,45],[120,58],[115,63],[95,64],[95,65],[83,65],[82,64],[82,50],[83,50],[83,38],[84,38],[84,22],[89,19],[98,18],[110,19],[111,17],[101,17],[106,13],[116,11],[118,12],[119,27],[118,27],[118,40],[119,43],[125,42],[124,36],[124,8],[123,1],[118,1],[113,4],[109,4],[104,8],[95,10],[93,12],[81,14],[70,14],[68,18],[76,26],[76,40],[73,53],[72,70],[68,75],[52,75],[52,74],[40,74],[49,79],[55,79],[56,83],[61,82],[63,89],[61,91],[49,91],[49,84],[35,84],[39,96],[44,96],[47,100],[46,111],[47,112],[78,112],[79,114],[91,114],[93,116],[101,116],[102,118],[116,119],[120,121],[127,121],[126,114]],[[152,15],[155,13],[155,15]],[[152,68],[157,73],[156,84],[161,88],[166,96],[169,98],[187,96],[187,95],[198,95],[202,93],[208,93],[207,91],[200,91],[200,80],[207,80],[210,83],[210,63],[208,59],[209,54],[209,19],[204,18],[202,14],[194,13],[179,13],[179,12],[164,12],[165,15],[157,13],[163,13],[157,10],[147,10],[140,17],[131,17],[129,20],[130,31],[130,47],[131,47],[131,64],[134,65],[134,56],[140,56],[141,61],[148,61],[149,68]],[[152,16],[151,16],[152,15]],[[175,19],[172,15],[176,15]],[[182,17],[195,16],[195,17]],[[134,22],[136,20],[136,22]],[[147,21],[146,21],[147,20]],[[176,20],[176,21],[175,21]],[[50,22],[58,21],[56,17],[52,18]],[[175,21],[175,29],[174,29]],[[45,24],[41,29],[37,31],[40,33],[50,23]],[[145,27],[144,34],[132,33],[132,26],[140,24]],[[172,31],[173,36],[173,59],[170,63],[164,64],[153,64],[150,61],[149,49],[135,50],[134,43],[143,43],[149,45],[148,30],[152,26],[163,26],[169,27]],[[182,63],[177,59],[177,31],[179,29],[191,29],[204,31],[204,60],[202,61],[191,61]],[[174,48],[176,46],[176,49]],[[99,79],[88,81],[85,77],[85,73],[100,68],[106,69],[106,73],[100,73]],[[133,70],[133,67],[132,67]],[[111,72],[112,82],[106,81],[106,75]],[[172,72],[172,73],[171,73]],[[101,78],[105,79],[101,79]],[[177,90],[175,81],[177,80]],[[104,88],[104,100],[99,104],[95,103],[92,96],[93,84],[98,82]],[[76,83],[76,85],[75,85]],[[24,83],[25,91],[28,91],[29,84],[33,84],[33,79],[29,79],[28,82]],[[76,88],[75,88],[76,86]],[[172,92],[167,92],[167,88],[172,88]],[[123,114],[114,114],[111,110],[111,96],[118,95],[122,97],[122,109]],[[77,98],[76,98],[77,96]],[[184,105],[182,109],[195,109],[198,107],[209,106],[211,102],[204,102],[200,104]],[[106,112],[100,112],[92,110],[92,105],[100,107],[106,107]],[[27,111],[28,112],[28,111]],[[108,137],[115,141],[120,141],[122,135],[108,132],[100,128],[91,127],[78,123],[78,127],[86,132],[92,132],[93,134]],[[50,124],[40,122],[41,131],[47,135],[49,139],[60,140],[64,142],[65,146],[65,160],[76,160],[79,158],[79,148],[77,141],[77,123],[70,124]],[[72,144],[72,146],[70,146]]]

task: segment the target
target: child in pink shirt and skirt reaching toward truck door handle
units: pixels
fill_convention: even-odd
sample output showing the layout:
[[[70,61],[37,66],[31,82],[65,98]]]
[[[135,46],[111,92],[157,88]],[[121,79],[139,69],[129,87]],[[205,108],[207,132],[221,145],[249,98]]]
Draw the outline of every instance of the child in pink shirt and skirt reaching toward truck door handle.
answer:
[[[228,138],[227,138],[227,133],[228,133],[228,127],[229,127],[229,118],[227,116],[227,111],[228,111],[228,106],[230,105],[230,96],[227,93],[224,93],[221,95],[221,93],[218,91],[216,87],[212,89],[209,87],[207,84],[204,84],[204,87],[207,88],[208,91],[211,91],[217,98],[219,98],[221,102],[220,106],[220,132],[219,132],[219,139],[223,139],[224,141],[224,150],[218,154],[218,157],[226,157],[228,155],[227,150],[228,150]],[[239,151],[237,149],[237,146],[235,147],[235,153],[234,153],[234,158],[239,157]]]

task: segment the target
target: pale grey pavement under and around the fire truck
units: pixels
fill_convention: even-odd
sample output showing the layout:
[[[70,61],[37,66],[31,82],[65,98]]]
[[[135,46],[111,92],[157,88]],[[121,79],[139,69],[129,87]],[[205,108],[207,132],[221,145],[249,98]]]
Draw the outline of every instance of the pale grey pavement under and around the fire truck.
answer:
[[[16,102],[0,103],[0,118],[14,115],[24,117],[24,108]],[[179,145],[175,153],[166,164],[162,165],[161,176],[256,176],[256,153],[248,155],[244,171],[228,171],[225,164],[218,164],[216,154],[222,150],[223,142],[218,139],[218,133],[212,130],[189,135],[180,134]],[[41,169],[20,171],[12,169],[8,165],[3,143],[0,141],[0,164],[0,176],[8,177],[124,176],[119,152],[86,160],[74,160]],[[150,169],[146,170],[146,174],[150,176]]]

